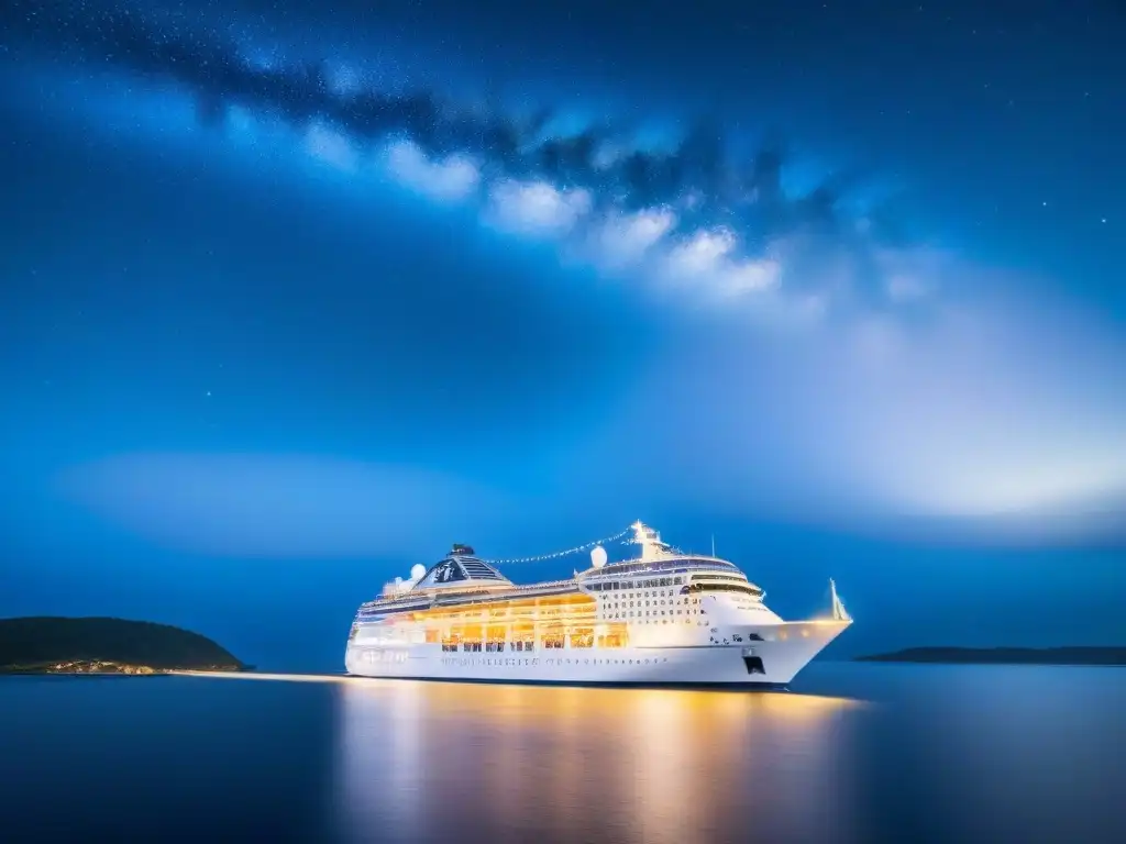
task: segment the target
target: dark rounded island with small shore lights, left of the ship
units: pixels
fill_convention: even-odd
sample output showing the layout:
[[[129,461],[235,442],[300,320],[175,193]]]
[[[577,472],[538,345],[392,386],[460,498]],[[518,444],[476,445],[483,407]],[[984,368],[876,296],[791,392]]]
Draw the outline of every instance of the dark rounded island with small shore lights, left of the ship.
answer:
[[[119,618],[0,619],[0,674],[167,674],[249,671],[205,636]]]

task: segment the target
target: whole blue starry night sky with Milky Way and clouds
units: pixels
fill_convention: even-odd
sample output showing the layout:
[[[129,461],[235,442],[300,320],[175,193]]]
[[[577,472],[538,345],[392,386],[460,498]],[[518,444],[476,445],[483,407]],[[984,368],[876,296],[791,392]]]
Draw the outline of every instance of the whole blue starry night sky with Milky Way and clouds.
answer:
[[[787,617],[835,577],[840,654],[1126,640],[1123,43],[1106,0],[9,0],[0,614],[332,671],[452,541],[641,518]]]

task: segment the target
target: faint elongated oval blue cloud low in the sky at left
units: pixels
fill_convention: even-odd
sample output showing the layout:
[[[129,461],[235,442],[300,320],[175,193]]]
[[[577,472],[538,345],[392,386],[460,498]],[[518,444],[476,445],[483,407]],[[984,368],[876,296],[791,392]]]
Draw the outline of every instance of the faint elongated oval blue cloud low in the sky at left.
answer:
[[[71,501],[152,542],[232,557],[402,554],[483,530],[501,497],[415,468],[316,456],[133,454],[73,467]]]

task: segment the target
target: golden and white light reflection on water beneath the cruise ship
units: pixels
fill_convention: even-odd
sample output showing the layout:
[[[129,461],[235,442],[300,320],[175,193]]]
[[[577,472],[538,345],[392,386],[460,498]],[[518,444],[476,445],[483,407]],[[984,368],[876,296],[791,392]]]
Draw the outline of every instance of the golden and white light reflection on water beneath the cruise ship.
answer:
[[[856,838],[841,791],[857,701],[410,681],[338,694],[351,841]]]

